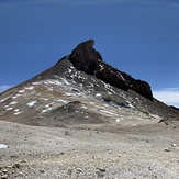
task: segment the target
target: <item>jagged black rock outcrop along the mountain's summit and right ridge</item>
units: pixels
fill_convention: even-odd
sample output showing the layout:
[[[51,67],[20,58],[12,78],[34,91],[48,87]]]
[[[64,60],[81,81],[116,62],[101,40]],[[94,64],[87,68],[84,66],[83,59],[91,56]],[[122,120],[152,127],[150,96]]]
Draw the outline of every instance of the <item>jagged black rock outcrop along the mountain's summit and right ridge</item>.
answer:
[[[132,89],[153,101],[150,86],[146,81],[136,80],[104,63],[100,53],[93,48],[93,40],[88,40],[79,44],[69,55],[69,60],[78,70],[96,75],[98,79],[125,91]]]

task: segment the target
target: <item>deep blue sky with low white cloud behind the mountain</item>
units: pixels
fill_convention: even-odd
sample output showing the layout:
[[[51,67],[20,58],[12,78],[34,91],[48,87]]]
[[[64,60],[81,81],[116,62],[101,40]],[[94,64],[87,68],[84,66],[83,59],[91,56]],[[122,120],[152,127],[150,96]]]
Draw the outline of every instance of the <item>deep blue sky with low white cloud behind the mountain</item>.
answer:
[[[179,105],[178,0],[0,0],[0,90],[89,38],[104,61]]]

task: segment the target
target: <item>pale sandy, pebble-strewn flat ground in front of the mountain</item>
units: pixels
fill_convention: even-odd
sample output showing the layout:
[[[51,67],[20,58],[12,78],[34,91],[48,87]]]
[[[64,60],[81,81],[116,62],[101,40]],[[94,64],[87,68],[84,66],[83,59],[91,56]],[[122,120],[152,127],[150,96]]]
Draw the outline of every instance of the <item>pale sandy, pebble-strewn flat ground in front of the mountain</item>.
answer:
[[[42,179],[177,179],[179,123],[72,125],[0,121],[0,177]]]

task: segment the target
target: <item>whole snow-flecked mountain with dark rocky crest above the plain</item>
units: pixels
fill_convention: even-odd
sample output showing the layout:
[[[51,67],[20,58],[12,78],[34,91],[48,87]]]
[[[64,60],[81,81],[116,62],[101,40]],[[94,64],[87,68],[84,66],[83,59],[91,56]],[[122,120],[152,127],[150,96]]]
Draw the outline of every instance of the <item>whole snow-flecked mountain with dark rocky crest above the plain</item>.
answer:
[[[153,98],[146,81],[104,63],[93,45],[82,42],[53,67],[1,93],[0,119],[48,126],[178,119],[178,110]]]

